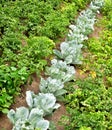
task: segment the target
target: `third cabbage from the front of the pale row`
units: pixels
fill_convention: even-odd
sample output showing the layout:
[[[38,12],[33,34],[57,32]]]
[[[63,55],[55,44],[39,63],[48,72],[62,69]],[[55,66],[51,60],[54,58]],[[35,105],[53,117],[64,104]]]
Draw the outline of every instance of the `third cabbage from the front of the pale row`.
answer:
[[[59,98],[67,92],[63,87],[64,83],[60,79],[52,79],[51,77],[48,77],[46,80],[41,78],[39,85],[42,93],[53,93],[56,98]]]

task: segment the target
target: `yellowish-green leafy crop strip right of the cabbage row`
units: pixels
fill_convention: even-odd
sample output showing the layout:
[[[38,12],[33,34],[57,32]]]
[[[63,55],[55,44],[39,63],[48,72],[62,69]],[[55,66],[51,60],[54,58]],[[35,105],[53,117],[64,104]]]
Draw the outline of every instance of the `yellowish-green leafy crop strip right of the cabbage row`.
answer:
[[[94,33],[99,35],[83,43],[86,58],[77,67],[83,79],[66,85],[64,130],[112,129],[112,1],[106,0],[101,11]]]

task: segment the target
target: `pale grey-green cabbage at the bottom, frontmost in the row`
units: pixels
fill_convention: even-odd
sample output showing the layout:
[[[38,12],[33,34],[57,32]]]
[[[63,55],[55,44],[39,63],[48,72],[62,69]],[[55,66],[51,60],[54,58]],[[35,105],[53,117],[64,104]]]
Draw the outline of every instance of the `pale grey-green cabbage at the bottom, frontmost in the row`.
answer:
[[[28,108],[20,107],[16,111],[11,109],[8,118],[13,123],[12,130],[47,130],[49,121],[43,119],[44,112],[38,108],[31,111]]]

